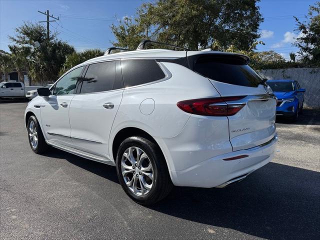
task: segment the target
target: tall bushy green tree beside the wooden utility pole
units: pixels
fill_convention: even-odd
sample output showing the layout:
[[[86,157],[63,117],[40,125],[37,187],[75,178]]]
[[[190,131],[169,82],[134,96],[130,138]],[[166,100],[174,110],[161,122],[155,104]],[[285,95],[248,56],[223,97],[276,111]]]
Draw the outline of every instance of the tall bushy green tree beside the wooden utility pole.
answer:
[[[30,49],[26,67],[29,69],[29,79],[41,84],[56,80],[65,56],[74,52],[73,46],[57,39],[57,32],[50,32],[50,39],[47,41],[46,28],[38,23],[24,22],[15,32],[9,39],[19,47]],[[35,48],[35,41],[38,41],[41,47]]]

